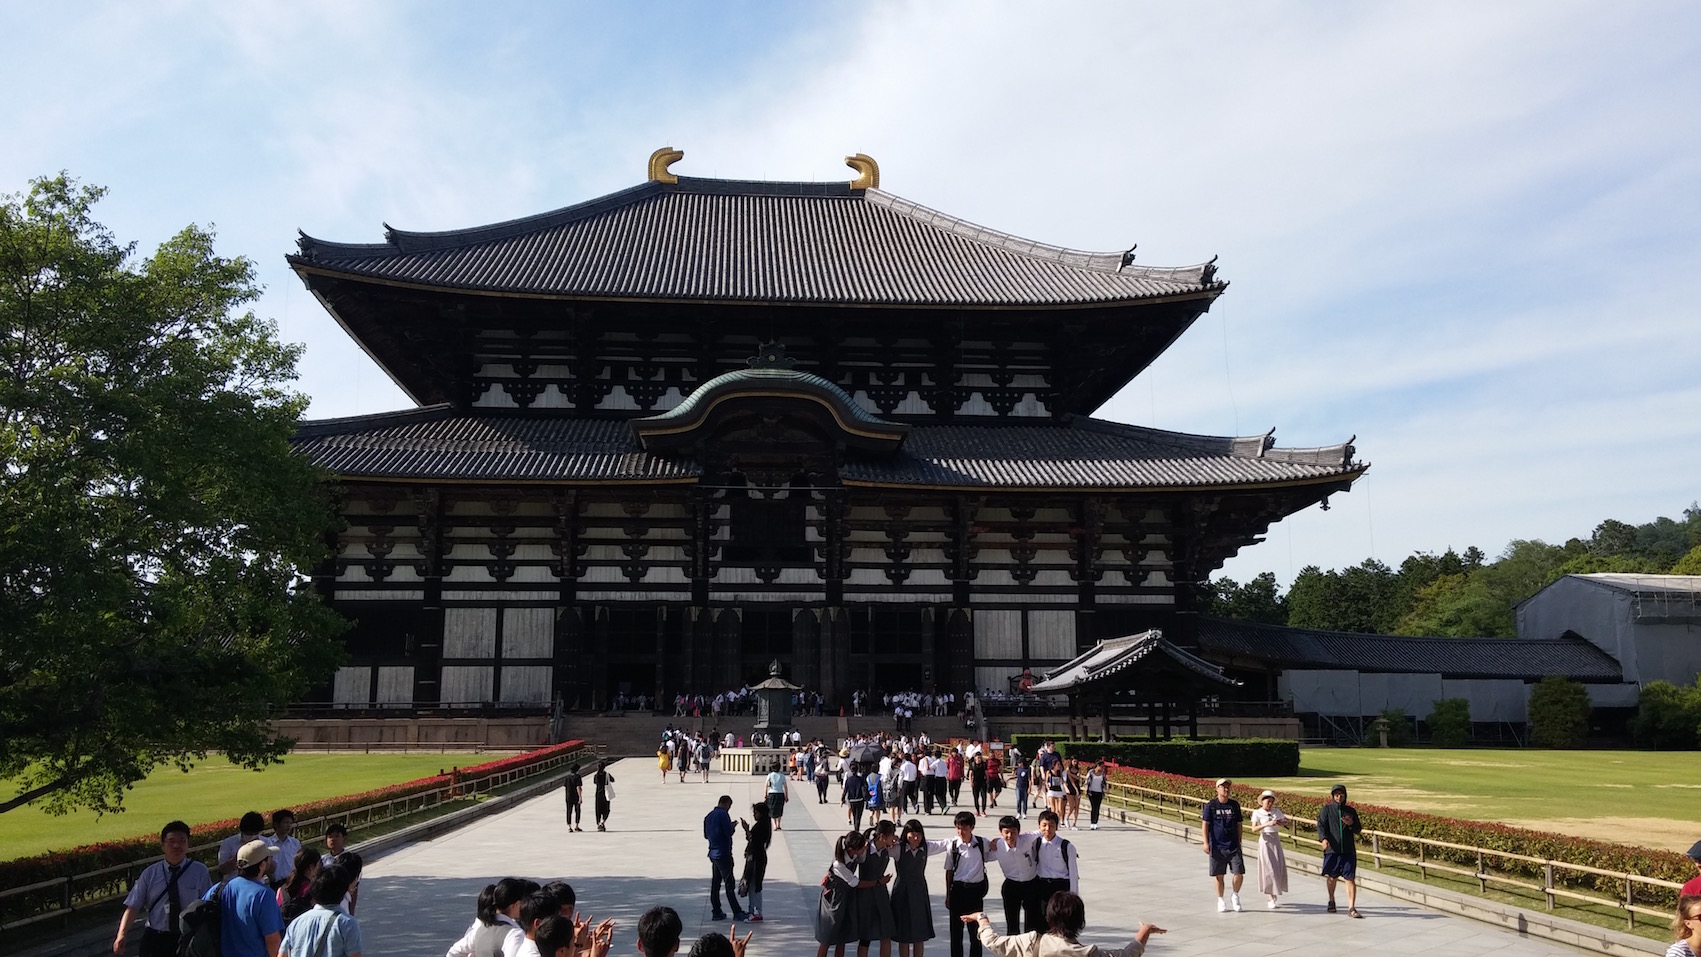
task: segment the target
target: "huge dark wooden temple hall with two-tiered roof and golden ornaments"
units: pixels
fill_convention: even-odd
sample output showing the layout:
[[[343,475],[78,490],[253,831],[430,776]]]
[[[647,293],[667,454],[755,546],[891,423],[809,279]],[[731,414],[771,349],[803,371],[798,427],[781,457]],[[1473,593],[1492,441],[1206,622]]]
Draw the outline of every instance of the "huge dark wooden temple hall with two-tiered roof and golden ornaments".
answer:
[[[327,700],[963,694],[1158,629],[1351,442],[1094,418],[1228,284],[854,182],[675,175],[291,267],[417,408],[308,422],[354,620]]]

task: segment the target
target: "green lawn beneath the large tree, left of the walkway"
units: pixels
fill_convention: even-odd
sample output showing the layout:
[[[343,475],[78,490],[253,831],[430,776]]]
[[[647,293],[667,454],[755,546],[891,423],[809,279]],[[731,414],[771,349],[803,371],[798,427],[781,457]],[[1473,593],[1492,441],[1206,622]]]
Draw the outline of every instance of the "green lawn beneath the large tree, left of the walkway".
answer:
[[[434,775],[451,767],[469,767],[507,756],[502,753],[458,755],[335,755],[298,753],[262,772],[238,768],[225,758],[208,758],[192,772],[155,770],[124,797],[122,814],[97,816],[78,811],[54,818],[32,806],[0,814],[0,848],[5,858],[44,850],[70,848],[114,838],[153,833],[174,819],[191,824],[240,818],[243,811],[270,816],[277,807],[323,801],[342,794],[373,790]],[[0,782],[0,794],[15,787]],[[196,843],[223,835],[196,835]]]

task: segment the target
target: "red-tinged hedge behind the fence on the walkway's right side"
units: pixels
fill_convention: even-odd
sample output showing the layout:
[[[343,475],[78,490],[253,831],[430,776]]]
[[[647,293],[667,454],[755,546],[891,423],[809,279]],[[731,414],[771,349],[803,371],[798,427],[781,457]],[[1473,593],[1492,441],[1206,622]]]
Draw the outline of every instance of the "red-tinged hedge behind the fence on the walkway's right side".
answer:
[[[1199,799],[1216,797],[1216,782],[1201,777],[1112,767],[1111,780]],[[1257,807],[1259,794],[1262,792],[1262,787],[1249,784],[1237,784],[1230,789],[1230,796],[1235,801],[1240,801],[1245,807]],[[1296,818],[1301,828],[1315,830],[1317,813],[1323,807],[1325,799],[1277,790],[1276,804],[1286,811],[1289,818]],[[1437,814],[1420,814],[1417,811],[1400,811],[1397,807],[1359,804],[1356,801],[1352,806],[1359,809],[1359,818],[1364,821],[1364,828],[1373,831],[1386,831],[1391,835],[1427,838],[1456,845],[1471,845],[1485,850],[1521,853],[1545,860],[1582,864],[1599,867],[1602,870],[1619,870],[1624,874],[1657,877],[1662,881],[1682,882],[1694,875],[1694,862],[1669,850],[1619,845],[1590,838],[1573,838],[1568,835],[1533,831],[1527,828],[1510,828],[1492,821],[1441,818]],[[1369,838],[1361,836],[1359,841],[1369,843]],[[1400,841],[1398,838],[1381,838],[1381,848],[1400,857],[1417,857],[1417,847],[1419,845],[1412,841]],[[1465,864],[1470,867],[1476,865],[1476,855],[1473,852],[1427,847],[1424,850],[1424,857],[1431,860],[1446,860],[1449,864]],[[1538,882],[1543,875],[1543,867],[1533,862],[1490,857],[1487,864],[1495,872],[1533,877]],[[1623,898],[1624,894],[1624,882],[1611,877],[1555,869],[1553,881],[1570,887],[1592,889],[1609,898]],[[1657,903],[1664,906],[1675,906],[1677,891],[1638,889],[1636,901],[1643,904]]]

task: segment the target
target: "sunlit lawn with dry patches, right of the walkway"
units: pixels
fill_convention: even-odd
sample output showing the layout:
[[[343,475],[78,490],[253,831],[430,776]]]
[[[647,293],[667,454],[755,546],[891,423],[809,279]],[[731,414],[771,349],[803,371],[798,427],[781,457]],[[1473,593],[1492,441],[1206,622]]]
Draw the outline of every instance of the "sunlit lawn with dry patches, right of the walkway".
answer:
[[[1701,836],[1701,760],[1684,751],[1306,748],[1300,775],[1249,780],[1356,804],[1686,850]]]

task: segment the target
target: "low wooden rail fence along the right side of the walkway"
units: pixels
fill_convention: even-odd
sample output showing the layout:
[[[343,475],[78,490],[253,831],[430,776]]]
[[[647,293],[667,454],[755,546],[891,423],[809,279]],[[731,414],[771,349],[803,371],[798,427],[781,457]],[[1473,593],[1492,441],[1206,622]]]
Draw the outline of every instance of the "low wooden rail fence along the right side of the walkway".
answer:
[[[1158,818],[1174,816],[1189,824],[1194,833],[1199,828],[1199,813],[1206,799],[1191,794],[1174,794],[1133,784],[1109,782],[1107,804],[1121,804],[1126,809],[1150,811]],[[1308,831],[1308,836],[1301,836]],[[1317,836],[1317,821],[1288,818],[1286,840],[1294,850],[1317,853],[1323,841]],[[1541,896],[1548,911],[1560,908],[1596,908],[1604,913],[1619,913],[1626,926],[1636,928],[1636,918],[1655,918],[1665,925],[1675,916],[1674,908],[1653,906],[1648,901],[1675,901],[1682,884],[1660,877],[1643,877],[1623,870],[1606,870],[1587,864],[1568,860],[1551,860],[1505,850],[1439,841],[1393,831],[1364,830],[1361,840],[1369,840],[1369,858],[1381,870],[1385,864],[1408,867],[1419,879],[1429,881],[1431,872],[1449,874],[1476,882],[1476,892],[1487,894],[1490,886],[1521,891],[1529,896]],[[1254,841],[1255,843],[1255,838]],[[1359,847],[1359,858],[1366,857],[1366,848]],[[1459,858],[1475,857],[1473,867],[1461,867]],[[1531,877],[1539,874],[1539,882]],[[1575,877],[1567,881],[1567,877]],[[1580,889],[1579,884],[1614,884],[1623,887],[1623,894],[1606,896]],[[1643,920],[1643,923],[1648,923]]]

